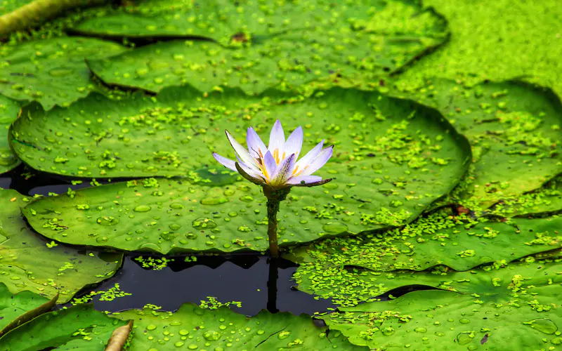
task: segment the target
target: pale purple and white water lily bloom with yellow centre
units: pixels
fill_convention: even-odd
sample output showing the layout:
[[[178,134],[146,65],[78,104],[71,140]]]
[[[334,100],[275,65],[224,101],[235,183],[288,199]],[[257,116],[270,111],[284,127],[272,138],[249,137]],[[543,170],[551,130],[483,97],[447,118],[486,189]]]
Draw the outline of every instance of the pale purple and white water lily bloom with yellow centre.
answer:
[[[213,153],[218,163],[233,171],[237,171],[252,183],[270,187],[273,190],[288,187],[313,187],[328,183],[332,179],[322,179],[313,176],[315,171],[322,168],[332,157],[334,147],[322,149],[324,141],[313,147],[301,157],[303,145],[303,128],[296,128],[285,140],[285,133],[279,119],[273,124],[269,136],[269,145],[261,141],[254,128],[248,128],[246,134],[246,149],[236,139],[226,132],[226,137],[232,145],[237,161],[227,159]],[[299,157],[301,157],[299,159]]]

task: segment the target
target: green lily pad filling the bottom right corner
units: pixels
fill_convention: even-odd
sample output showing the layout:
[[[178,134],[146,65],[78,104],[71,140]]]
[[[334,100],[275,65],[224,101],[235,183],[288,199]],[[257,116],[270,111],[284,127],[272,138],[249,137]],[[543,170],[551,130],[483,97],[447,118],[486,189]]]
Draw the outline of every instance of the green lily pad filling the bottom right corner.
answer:
[[[535,262],[499,270],[422,274],[433,281],[450,280],[442,284],[462,293],[415,291],[396,300],[341,307],[341,312],[325,320],[351,343],[384,350],[398,350],[405,344],[416,350],[530,350],[544,343],[560,345],[561,268],[560,263]]]

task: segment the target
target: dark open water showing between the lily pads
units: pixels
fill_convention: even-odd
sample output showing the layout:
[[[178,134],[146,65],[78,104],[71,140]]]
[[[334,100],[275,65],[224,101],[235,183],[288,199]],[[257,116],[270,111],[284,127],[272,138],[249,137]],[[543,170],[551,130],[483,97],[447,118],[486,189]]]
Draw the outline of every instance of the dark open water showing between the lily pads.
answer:
[[[90,180],[84,180],[79,185],[72,185],[71,180],[35,173],[29,168],[19,166],[0,178],[0,187],[14,189],[24,195],[48,196],[50,192],[67,192],[69,187],[77,190],[91,186]],[[99,183],[107,181],[99,180]],[[296,285],[292,274],[297,266],[288,260],[278,260],[273,265],[277,265],[277,269],[272,271],[270,258],[258,254],[197,256],[195,263],[186,263],[184,256],[176,256],[166,257],[174,258],[174,261],[162,270],[152,270],[142,267],[141,263],[134,260],[139,255],[126,254],[123,267],[114,277],[98,286],[84,289],[77,297],[91,291],[107,291],[118,283],[122,291],[132,295],[112,301],[100,301],[95,297],[94,306],[97,310],[117,312],[142,308],[150,303],[162,306],[163,310],[172,311],[178,309],[182,303],[200,304],[201,300],[207,300],[208,296],[221,303],[239,301],[242,307],[233,307],[233,310],[247,315],[254,315],[268,308],[293,314],[313,314],[335,307],[329,300],[315,300],[314,296],[292,288]],[[148,255],[144,254],[143,258],[148,258]],[[276,298],[272,289],[268,293],[268,280],[276,280]]]

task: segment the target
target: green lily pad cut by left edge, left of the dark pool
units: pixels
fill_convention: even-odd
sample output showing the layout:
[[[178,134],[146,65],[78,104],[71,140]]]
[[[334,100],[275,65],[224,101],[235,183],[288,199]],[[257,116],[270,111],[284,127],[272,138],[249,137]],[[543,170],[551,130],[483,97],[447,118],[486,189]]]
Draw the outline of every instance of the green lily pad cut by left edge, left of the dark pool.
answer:
[[[115,274],[122,254],[78,251],[46,241],[21,217],[26,201],[30,199],[14,190],[0,191],[0,282],[12,293],[28,290],[48,298],[60,293],[58,302],[65,303],[84,286]]]

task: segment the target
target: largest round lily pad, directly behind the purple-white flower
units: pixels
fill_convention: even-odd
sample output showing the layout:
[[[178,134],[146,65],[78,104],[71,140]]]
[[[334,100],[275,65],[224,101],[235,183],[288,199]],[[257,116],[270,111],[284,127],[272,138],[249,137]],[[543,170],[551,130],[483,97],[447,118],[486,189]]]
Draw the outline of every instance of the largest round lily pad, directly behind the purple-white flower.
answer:
[[[240,176],[223,174],[226,168],[211,155],[233,157],[224,128],[240,135],[253,125],[263,134],[277,118],[292,130],[306,117],[305,152],[323,138],[336,145],[319,173],[334,180],[322,188],[293,189],[282,203],[287,243],[407,223],[457,184],[470,157],[466,140],[436,111],[407,100],[340,88],[295,100],[235,92],[200,98],[187,88],[170,88],[157,100],[136,95],[116,102],[94,95],[64,110],[30,107],[12,135],[15,151],[34,168],[72,176],[188,179],[157,180],[158,189],[145,180],[39,199],[25,216],[41,234],[67,243],[162,253],[263,251],[265,197]],[[171,208],[176,204],[184,208]]]

